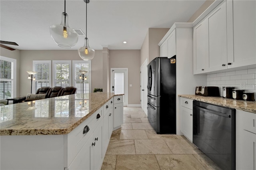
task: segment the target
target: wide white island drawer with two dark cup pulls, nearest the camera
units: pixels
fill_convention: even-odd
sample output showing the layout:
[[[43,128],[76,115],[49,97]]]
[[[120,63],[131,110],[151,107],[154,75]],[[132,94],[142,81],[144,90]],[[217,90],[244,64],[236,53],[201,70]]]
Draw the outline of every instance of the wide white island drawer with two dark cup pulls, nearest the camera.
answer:
[[[67,162],[68,165],[72,162],[72,160],[75,158],[75,156],[78,154],[78,152],[81,150],[81,148],[84,146],[84,143],[88,140],[88,138],[93,134],[95,128],[100,123],[100,121],[103,119],[103,107],[98,109],[94,114],[92,114],[88,119],[86,119],[83,123],[81,123],[78,127],[76,127],[74,130],[72,130],[70,133],[64,136],[64,138],[67,138],[64,141],[67,141],[64,145],[68,146],[68,150],[66,150],[66,154],[68,155]],[[97,119],[97,115],[100,115],[100,118]],[[83,134],[84,127],[86,125],[90,128],[90,130]]]

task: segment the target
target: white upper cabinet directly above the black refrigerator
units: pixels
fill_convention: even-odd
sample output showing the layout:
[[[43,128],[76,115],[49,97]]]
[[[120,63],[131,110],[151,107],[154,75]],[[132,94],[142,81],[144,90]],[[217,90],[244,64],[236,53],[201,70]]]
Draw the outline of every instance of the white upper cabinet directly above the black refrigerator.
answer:
[[[176,29],[160,45],[160,57],[171,58],[176,55]]]

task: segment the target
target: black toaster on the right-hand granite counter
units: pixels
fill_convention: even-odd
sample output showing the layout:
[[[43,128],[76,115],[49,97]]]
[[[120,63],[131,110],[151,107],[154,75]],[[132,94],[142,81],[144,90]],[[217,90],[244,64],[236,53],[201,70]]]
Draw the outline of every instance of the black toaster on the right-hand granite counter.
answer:
[[[220,91],[215,86],[197,86],[195,95],[220,97]]]

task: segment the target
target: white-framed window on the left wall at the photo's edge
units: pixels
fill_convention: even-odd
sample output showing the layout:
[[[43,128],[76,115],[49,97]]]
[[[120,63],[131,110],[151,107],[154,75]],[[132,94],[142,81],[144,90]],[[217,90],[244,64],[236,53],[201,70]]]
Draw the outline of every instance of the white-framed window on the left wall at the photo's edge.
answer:
[[[0,99],[16,97],[16,59],[0,58]]]

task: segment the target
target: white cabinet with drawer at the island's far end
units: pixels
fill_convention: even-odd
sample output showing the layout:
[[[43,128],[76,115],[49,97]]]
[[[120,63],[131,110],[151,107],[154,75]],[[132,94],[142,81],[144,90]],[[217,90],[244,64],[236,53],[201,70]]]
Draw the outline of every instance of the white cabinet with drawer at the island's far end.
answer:
[[[124,98],[123,96],[114,96],[114,129],[116,130],[121,127],[124,123]]]

